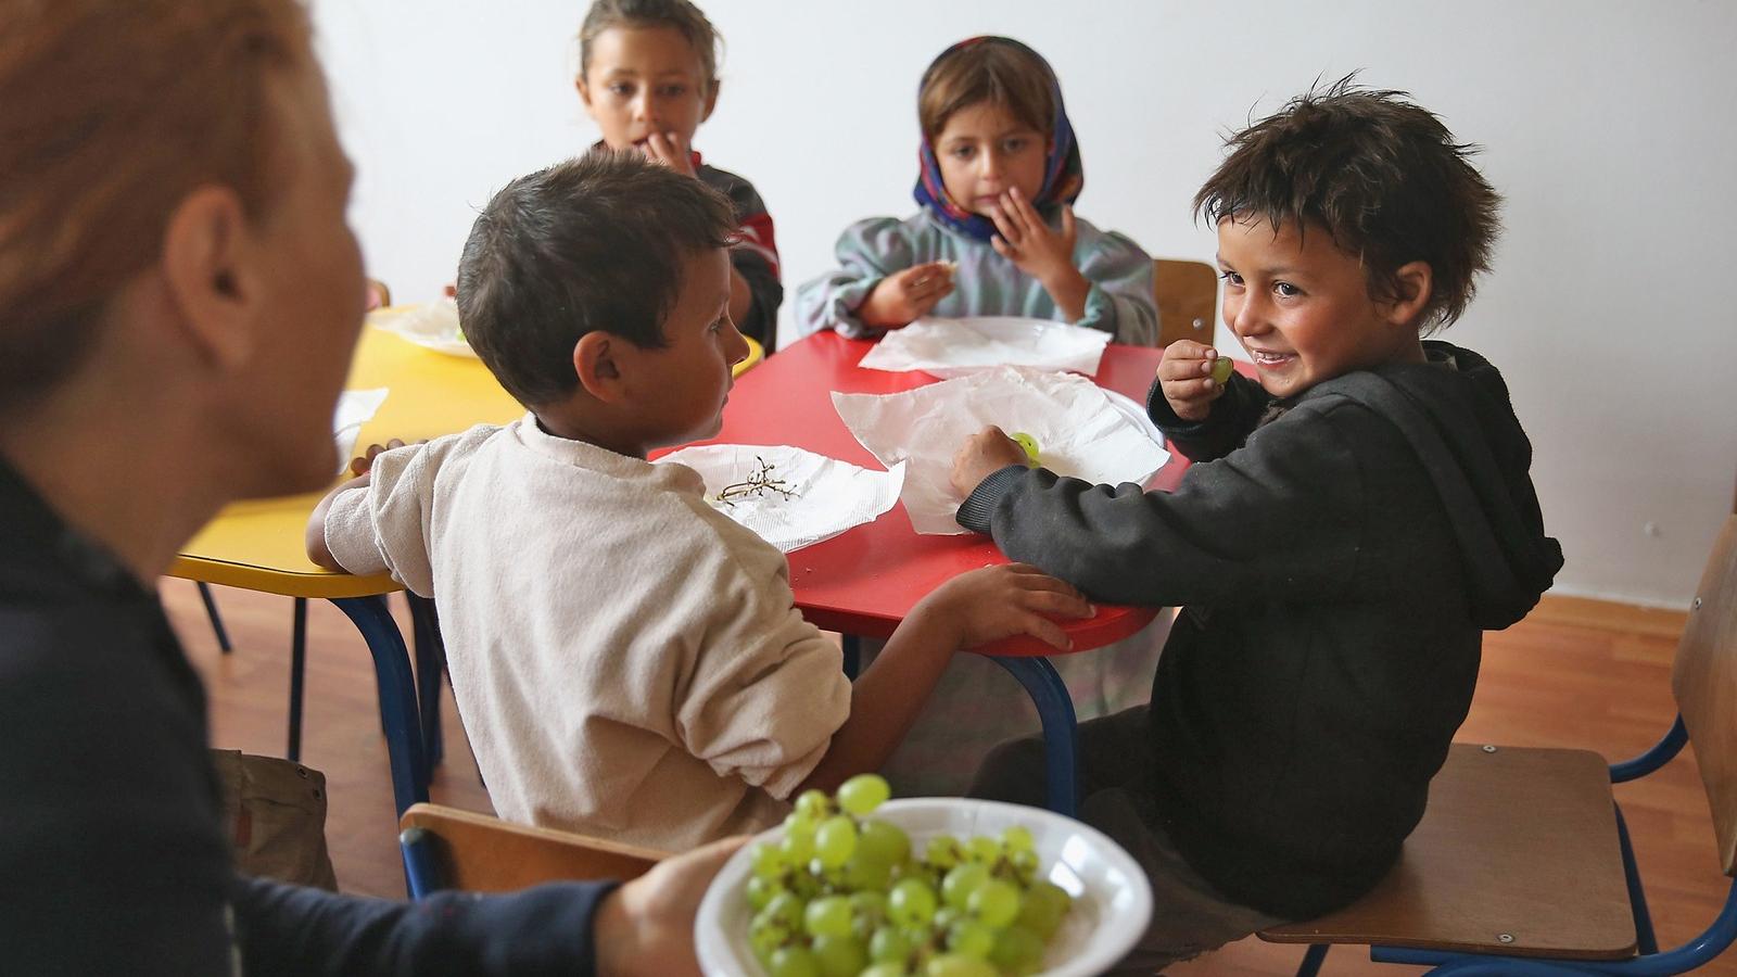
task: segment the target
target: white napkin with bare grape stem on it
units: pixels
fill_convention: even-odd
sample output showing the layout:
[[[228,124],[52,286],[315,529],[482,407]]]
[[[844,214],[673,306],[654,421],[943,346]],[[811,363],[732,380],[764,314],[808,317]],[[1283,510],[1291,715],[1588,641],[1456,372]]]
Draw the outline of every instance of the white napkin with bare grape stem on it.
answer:
[[[768,478],[782,480],[789,492],[763,488],[730,501],[719,494],[747,482],[761,462]],[[705,480],[705,499],[717,511],[759,534],[783,553],[832,539],[841,532],[877,520],[898,504],[905,466],[868,471],[855,464],[789,445],[695,445],[670,452],[658,464],[686,464]]]

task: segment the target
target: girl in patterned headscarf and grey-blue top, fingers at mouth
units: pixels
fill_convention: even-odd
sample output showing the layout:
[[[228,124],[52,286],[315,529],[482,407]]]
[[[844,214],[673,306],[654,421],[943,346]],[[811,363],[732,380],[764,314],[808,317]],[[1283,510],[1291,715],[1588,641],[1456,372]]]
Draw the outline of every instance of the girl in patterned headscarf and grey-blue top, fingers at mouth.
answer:
[[[917,89],[922,165],[914,217],[870,217],[839,238],[841,269],[796,296],[802,334],[879,337],[924,315],[1021,315],[1159,337],[1152,259],[1073,216],[1086,184],[1061,85],[1035,50],[974,37]]]

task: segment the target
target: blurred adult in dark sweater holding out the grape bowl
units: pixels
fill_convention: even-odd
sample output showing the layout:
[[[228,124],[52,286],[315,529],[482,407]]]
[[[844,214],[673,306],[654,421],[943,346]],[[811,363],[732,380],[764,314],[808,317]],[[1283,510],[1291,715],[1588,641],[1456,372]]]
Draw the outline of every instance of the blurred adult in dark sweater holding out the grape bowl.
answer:
[[[17,974],[670,974],[730,843],[420,904],[238,878],[153,581],[323,487],[361,323],[297,0],[0,0],[0,960]]]

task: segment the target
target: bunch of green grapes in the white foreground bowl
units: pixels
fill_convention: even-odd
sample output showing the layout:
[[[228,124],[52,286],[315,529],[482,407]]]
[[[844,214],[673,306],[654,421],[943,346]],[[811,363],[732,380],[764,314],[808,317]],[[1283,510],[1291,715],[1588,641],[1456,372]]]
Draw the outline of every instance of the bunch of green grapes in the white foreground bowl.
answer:
[[[1032,833],[910,838],[868,817],[891,794],[874,774],[837,798],[806,791],[783,838],[756,845],[749,944],[771,977],[1035,974],[1073,901],[1037,878]]]

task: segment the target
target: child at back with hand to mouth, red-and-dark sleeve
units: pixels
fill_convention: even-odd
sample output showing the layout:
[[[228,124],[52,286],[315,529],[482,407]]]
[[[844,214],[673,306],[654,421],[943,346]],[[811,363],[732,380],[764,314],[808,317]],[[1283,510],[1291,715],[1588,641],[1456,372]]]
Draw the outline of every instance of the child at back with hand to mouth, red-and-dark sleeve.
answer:
[[[639,150],[698,177],[735,207],[730,318],[766,353],[778,346],[778,243],[754,184],[709,167],[693,130],[717,104],[717,31],[688,0],[596,0],[578,30],[578,101],[611,150]]]

